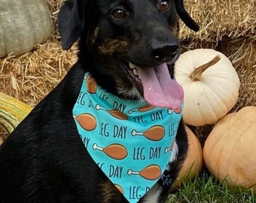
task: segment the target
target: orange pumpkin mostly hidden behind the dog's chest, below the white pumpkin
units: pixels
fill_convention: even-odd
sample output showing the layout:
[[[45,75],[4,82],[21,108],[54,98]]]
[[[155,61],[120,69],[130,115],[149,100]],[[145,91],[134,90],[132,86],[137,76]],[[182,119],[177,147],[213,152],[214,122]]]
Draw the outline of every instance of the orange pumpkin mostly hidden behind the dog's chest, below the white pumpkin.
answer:
[[[185,126],[185,129],[188,139],[187,158],[178,173],[178,178],[172,185],[172,192],[178,189],[184,181],[194,180],[203,168],[203,152],[200,141],[187,126]]]

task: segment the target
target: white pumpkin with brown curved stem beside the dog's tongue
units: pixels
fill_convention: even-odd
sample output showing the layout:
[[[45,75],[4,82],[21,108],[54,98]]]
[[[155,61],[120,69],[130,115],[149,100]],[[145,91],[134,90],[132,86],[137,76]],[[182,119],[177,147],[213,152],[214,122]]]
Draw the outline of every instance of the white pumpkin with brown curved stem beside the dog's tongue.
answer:
[[[182,53],[175,63],[175,78],[184,89],[184,123],[212,124],[236,104],[240,81],[232,63],[212,49]]]

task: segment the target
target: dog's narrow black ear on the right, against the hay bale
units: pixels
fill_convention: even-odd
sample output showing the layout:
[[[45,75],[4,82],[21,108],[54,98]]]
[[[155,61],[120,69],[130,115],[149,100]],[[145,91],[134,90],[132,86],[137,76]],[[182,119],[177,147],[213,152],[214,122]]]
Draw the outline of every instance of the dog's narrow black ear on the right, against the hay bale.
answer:
[[[187,27],[197,32],[200,27],[185,10],[183,0],[175,0],[175,6],[177,14],[181,18],[181,20],[187,25]]]

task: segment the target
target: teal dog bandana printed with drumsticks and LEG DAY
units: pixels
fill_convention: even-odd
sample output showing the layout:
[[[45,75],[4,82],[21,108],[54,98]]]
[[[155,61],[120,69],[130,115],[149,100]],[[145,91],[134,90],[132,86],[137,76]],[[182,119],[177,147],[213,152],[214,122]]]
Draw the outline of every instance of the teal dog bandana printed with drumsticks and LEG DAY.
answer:
[[[105,92],[88,73],[73,109],[88,153],[131,203],[164,175],[180,113]]]

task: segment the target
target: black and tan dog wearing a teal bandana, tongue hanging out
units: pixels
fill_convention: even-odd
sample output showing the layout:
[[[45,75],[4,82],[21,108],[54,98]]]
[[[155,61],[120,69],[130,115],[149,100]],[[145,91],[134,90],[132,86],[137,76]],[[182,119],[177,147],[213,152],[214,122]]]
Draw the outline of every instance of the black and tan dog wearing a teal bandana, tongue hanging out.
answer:
[[[184,10],[182,0],[68,0],[62,5],[58,19],[62,47],[67,50],[80,38],[78,62],[2,144],[1,202],[166,201],[187,153],[187,137],[179,119],[176,123],[167,121],[165,128],[157,124],[158,120],[168,117],[163,112],[179,118],[181,110],[183,92],[170,77],[179,56],[177,14],[190,29],[198,29],[197,23]],[[96,95],[95,89],[89,93],[89,78],[93,78],[93,83],[103,91],[97,98],[97,105],[92,98],[85,98]],[[85,80],[87,91],[82,87]],[[122,102],[114,100],[108,102],[111,104],[108,109],[102,108],[104,102],[115,98]],[[134,109],[128,111],[126,103]],[[74,115],[77,104],[97,111],[98,118],[83,114],[79,120]],[[149,110],[153,111],[150,116],[143,112],[137,114],[137,111]],[[133,112],[136,116],[131,119]],[[104,114],[116,114],[123,126],[111,123],[112,118],[104,119]],[[148,127],[153,125],[150,120],[157,124],[153,134],[139,134],[135,129],[129,132],[125,126],[133,121],[132,128]],[[79,130],[79,124],[84,125],[84,129]],[[114,132],[110,132],[110,128]],[[108,145],[106,150],[99,147],[106,146],[103,142],[97,146],[90,142],[93,138],[84,138],[83,130],[94,137],[112,135],[115,143]],[[94,135],[95,131],[99,135]],[[145,140],[154,144],[157,139],[162,140],[162,134],[167,140],[148,150],[141,142],[133,140],[148,137]],[[172,136],[172,141],[168,141]],[[126,150],[124,144],[120,145],[124,138],[132,143],[133,153]],[[108,168],[111,171],[103,172],[104,165],[92,159],[93,155],[88,153],[91,143],[93,150],[101,154],[99,159],[107,159],[106,154],[111,156],[109,167],[112,168]],[[112,166],[132,155],[134,161],[129,167],[136,168],[140,164],[138,159],[143,163],[151,161],[145,160],[148,156],[162,159],[160,154],[169,151],[172,153],[164,163],[165,170],[154,164],[145,167],[143,172]],[[154,184],[134,186],[137,183],[133,180],[121,180],[128,188],[123,190],[111,183],[111,176],[129,176],[134,180],[142,177],[143,181],[154,179]]]

